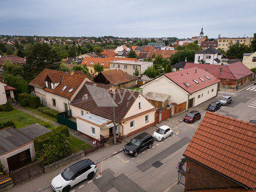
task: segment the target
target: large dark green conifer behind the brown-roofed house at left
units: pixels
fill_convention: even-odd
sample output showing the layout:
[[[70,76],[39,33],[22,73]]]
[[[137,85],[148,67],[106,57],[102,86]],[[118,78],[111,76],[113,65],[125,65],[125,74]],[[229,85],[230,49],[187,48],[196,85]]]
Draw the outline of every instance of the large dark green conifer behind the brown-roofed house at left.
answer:
[[[34,43],[32,51],[28,52],[26,64],[23,64],[24,78],[31,80],[43,69],[58,69],[61,59],[48,43]]]

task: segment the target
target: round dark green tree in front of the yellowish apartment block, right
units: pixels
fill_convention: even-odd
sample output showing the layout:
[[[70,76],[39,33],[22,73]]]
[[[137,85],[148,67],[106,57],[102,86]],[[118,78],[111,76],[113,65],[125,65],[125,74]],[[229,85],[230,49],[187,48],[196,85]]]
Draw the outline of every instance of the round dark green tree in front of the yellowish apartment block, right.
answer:
[[[239,59],[243,59],[243,54],[251,53],[252,50],[245,44],[236,43],[234,45],[229,46],[228,51],[226,51],[226,55],[234,56]]]

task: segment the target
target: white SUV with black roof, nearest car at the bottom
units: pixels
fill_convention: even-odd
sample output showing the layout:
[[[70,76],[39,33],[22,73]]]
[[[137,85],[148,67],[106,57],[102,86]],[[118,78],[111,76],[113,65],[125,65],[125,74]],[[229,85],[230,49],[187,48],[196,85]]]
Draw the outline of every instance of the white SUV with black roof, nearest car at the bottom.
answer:
[[[84,179],[92,179],[97,172],[97,165],[90,159],[84,159],[64,170],[63,173],[52,179],[53,191],[67,192],[73,185]]]

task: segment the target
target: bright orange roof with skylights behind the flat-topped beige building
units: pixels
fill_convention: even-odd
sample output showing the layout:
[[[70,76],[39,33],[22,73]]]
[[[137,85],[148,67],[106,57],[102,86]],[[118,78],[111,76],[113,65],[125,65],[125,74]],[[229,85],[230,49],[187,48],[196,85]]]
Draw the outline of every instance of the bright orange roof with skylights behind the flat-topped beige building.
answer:
[[[115,53],[116,54],[116,53]],[[118,57],[108,57],[108,58],[99,58],[99,57],[86,57],[82,61],[81,65],[86,64],[86,66],[94,66],[96,63],[102,64],[104,68],[110,67],[110,61],[119,61],[119,60],[128,60],[128,61],[137,61],[137,58],[118,58]],[[92,63],[92,64],[91,64]],[[104,63],[104,64],[103,64]]]

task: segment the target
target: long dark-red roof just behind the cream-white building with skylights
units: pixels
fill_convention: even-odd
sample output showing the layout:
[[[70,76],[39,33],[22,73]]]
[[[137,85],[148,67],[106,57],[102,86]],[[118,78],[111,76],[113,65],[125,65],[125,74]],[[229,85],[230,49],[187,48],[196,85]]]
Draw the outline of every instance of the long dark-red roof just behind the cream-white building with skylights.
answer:
[[[221,67],[222,70],[220,72],[220,79],[237,80],[252,73],[252,71],[249,70],[248,67],[246,67],[242,62],[231,63],[228,65],[186,63],[184,69],[189,69],[192,67],[207,70],[207,72],[216,76],[216,78],[219,78],[219,68]]]

